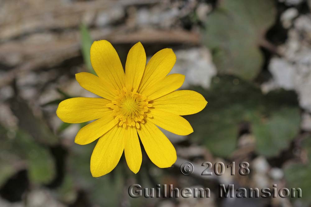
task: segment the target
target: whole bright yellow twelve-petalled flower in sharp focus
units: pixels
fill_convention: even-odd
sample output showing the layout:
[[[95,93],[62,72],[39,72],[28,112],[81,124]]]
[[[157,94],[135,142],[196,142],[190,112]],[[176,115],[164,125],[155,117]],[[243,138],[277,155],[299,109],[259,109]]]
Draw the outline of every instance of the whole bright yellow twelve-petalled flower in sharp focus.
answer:
[[[91,63],[98,76],[78,73],[81,87],[103,98],[77,97],[62,101],[57,116],[67,123],[95,120],[77,133],[80,145],[98,140],[91,156],[91,173],[99,177],[111,172],[123,153],[129,169],[137,173],[142,164],[138,135],[150,160],[160,168],[177,159],[169,139],[157,127],[178,135],[193,132],[180,115],[201,111],[207,104],[194,91],[178,89],[182,74],[170,74],[176,56],[172,49],[157,52],[146,65],[140,42],[128,52],[125,73],[114,47],[106,40],[91,46]],[[137,135],[138,133],[138,135]]]

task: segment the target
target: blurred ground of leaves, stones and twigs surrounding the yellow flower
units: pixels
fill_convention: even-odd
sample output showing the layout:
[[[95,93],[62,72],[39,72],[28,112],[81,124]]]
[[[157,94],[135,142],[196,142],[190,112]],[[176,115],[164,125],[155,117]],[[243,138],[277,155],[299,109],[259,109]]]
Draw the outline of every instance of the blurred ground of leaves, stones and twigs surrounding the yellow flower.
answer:
[[[307,0],[0,0],[1,207],[229,207],[311,204],[311,1]],[[136,175],[124,155],[92,178],[96,141],[74,144],[84,124],[63,123],[58,103],[95,97],[75,80],[93,72],[89,48],[107,39],[123,65],[141,41],[147,59],[177,56],[171,73],[207,107],[185,116],[189,136],[165,132],[178,160],[159,169],[143,150]],[[143,149],[143,148],[142,148]],[[183,175],[190,161],[250,164],[250,174]],[[196,168],[197,169],[197,168]],[[128,187],[209,187],[211,198],[130,198]],[[218,197],[219,184],[300,187],[303,197]]]

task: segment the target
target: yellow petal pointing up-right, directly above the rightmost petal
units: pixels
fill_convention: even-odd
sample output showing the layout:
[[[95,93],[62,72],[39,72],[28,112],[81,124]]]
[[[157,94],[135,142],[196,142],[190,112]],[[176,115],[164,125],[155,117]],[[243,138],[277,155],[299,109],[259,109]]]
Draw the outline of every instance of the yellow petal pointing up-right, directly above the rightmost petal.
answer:
[[[185,76],[182,74],[170,74],[152,87],[146,88],[143,95],[149,100],[154,100],[180,88],[184,80]]]

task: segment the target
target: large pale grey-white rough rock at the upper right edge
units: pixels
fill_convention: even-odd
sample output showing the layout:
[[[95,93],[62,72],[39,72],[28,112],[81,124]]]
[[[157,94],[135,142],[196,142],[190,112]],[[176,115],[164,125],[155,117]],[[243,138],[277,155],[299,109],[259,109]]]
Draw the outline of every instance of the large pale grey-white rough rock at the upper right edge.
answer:
[[[294,21],[294,28],[289,30],[289,37],[280,51],[284,57],[273,57],[268,69],[273,77],[271,86],[295,90],[299,105],[311,112],[311,16],[299,16]],[[265,83],[266,84],[266,83]],[[269,88],[267,85],[262,88]]]

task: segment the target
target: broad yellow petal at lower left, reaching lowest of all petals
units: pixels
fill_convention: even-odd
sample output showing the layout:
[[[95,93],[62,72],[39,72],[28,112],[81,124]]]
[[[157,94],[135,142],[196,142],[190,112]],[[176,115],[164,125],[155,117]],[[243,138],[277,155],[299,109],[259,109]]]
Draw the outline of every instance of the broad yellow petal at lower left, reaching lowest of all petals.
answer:
[[[124,128],[115,126],[98,140],[91,156],[91,173],[100,177],[118,164],[124,150]]]

